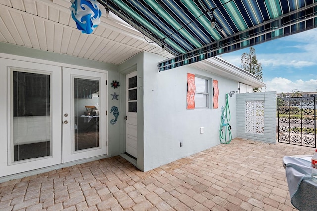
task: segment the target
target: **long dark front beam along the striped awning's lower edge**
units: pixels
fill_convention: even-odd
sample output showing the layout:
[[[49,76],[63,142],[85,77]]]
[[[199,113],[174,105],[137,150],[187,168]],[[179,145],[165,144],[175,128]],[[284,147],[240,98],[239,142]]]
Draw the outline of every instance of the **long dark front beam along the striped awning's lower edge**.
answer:
[[[158,63],[158,68],[159,71],[169,70],[316,27],[317,2],[190,52],[166,59]]]

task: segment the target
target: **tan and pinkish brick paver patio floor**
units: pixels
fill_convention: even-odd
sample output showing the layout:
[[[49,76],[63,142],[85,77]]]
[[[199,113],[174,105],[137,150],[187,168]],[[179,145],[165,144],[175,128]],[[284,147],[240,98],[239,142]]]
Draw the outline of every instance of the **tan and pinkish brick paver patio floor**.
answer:
[[[0,210],[292,211],[282,166],[314,149],[234,139],[148,172],[120,156],[0,184]]]

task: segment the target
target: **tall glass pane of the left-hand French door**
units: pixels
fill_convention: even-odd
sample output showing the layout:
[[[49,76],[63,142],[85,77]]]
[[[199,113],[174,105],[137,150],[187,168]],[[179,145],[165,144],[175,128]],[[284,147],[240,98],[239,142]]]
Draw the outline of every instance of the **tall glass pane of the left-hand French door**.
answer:
[[[13,71],[13,159],[51,155],[50,75]]]

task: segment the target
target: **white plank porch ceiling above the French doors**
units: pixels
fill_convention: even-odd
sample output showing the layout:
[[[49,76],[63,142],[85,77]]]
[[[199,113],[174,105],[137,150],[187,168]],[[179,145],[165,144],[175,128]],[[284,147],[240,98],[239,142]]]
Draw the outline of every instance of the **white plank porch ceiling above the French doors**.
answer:
[[[69,0],[0,0],[0,42],[121,64],[147,51],[172,57],[115,15],[105,17],[92,34],[83,34],[71,18]]]

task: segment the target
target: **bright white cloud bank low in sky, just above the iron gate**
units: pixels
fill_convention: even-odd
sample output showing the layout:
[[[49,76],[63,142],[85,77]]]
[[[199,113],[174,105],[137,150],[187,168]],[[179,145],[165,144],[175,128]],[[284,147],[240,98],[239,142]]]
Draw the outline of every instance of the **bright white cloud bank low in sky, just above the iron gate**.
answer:
[[[276,91],[277,93],[287,93],[294,89],[302,92],[316,92],[317,81],[316,79],[310,79],[308,81],[296,80],[295,82],[290,81],[286,78],[275,77],[270,81],[264,81],[266,84],[266,91]],[[265,89],[262,89],[265,91]]]

